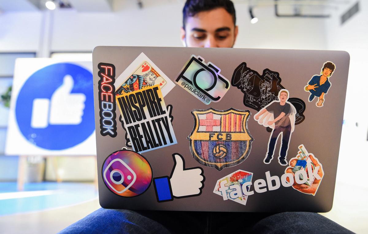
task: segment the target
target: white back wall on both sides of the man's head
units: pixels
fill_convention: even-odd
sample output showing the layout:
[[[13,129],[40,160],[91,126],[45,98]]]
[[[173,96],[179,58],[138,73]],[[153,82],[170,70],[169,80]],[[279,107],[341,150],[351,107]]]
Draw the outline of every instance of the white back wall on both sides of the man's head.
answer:
[[[114,1],[114,12],[53,11],[52,52],[87,52],[99,45],[182,46],[180,27],[183,3]],[[325,49],[323,19],[277,18],[273,6],[255,7],[259,18],[250,23],[248,4],[236,3],[239,35],[235,47],[271,49]],[[46,17],[47,18],[47,17]],[[38,51],[42,39],[40,12],[0,14],[0,52]]]

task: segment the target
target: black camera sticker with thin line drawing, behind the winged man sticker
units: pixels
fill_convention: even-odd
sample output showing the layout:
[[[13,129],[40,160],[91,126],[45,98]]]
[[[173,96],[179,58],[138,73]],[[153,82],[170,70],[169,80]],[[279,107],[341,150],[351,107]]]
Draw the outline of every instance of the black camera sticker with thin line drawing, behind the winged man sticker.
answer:
[[[244,105],[257,111],[277,100],[279,91],[285,89],[281,85],[278,72],[265,69],[263,74],[259,75],[258,72],[248,68],[247,63],[241,63],[235,69],[231,85],[236,86],[244,93]],[[305,103],[296,97],[290,97],[289,102],[296,109],[295,124],[300,124],[305,118],[303,114]]]

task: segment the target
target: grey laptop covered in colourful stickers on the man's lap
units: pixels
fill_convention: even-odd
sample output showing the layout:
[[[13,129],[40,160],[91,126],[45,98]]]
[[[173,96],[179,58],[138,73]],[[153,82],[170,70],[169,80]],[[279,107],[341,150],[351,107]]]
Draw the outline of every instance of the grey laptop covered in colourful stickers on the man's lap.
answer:
[[[328,212],[344,51],[98,46],[103,208]]]

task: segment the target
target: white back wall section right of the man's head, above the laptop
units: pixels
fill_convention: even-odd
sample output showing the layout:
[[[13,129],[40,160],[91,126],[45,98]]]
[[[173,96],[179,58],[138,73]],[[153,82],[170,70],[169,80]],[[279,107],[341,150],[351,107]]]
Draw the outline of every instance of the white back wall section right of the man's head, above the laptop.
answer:
[[[259,19],[250,23],[248,4],[236,4],[239,35],[236,47],[262,49],[326,49],[322,18],[282,18],[275,16],[273,6],[255,7]]]

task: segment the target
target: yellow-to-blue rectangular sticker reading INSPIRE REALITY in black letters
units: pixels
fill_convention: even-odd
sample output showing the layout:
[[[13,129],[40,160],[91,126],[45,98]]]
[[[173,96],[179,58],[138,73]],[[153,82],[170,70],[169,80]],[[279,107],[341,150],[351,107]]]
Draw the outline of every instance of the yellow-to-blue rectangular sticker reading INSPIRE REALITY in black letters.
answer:
[[[147,152],[177,143],[159,85],[116,97],[132,148]]]

